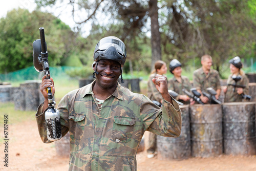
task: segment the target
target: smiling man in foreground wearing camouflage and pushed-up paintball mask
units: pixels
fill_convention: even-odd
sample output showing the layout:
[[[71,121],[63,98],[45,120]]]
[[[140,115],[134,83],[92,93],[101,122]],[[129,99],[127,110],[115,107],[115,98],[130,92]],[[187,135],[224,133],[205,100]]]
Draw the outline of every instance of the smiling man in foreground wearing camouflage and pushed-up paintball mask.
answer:
[[[145,131],[167,137],[180,135],[179,105],[169,95],[167,79],[162,75],[152,79],[162,96],[162,108],[118,83],[126,58],[119,38],[102,38],[93,58],[96,79],[69,92],[57,108],[62,137],[70,132],[69,170],[137,170],[136,154]],[[45,125],[46,88],[51,87],[53,94],[55,88],[53,79],[45,78],[40,84],[45,102],[38,106],[36,121],[41,140],[51,143]]]

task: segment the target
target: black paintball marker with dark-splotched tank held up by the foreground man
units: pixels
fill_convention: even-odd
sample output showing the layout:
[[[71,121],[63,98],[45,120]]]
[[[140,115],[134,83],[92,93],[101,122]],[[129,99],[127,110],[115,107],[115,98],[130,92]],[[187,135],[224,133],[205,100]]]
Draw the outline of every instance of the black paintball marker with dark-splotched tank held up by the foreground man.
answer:
[[[45,40],[45,31],[43,27],[39,28],[40,39],[33,42],[33,63],[35,70],[44,72],[47,79],[50,79],[50,67],[48,63],[48,52]],[[54,109],[56,104],[53,100],[52,88],[46,88],[48,95],[48,108],[45,112],[45,120],[47,126],[47,138],[51,141],[56,141],[61,138],[61,126],[59,111]]]

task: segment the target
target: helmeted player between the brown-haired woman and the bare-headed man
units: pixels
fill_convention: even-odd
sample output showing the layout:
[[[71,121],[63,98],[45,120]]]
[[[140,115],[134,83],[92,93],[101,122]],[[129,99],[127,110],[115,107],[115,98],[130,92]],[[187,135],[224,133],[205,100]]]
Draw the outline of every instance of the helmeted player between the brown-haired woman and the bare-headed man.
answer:
[[[181,63],[177,59],[173,59],[169,63],[169,71],[174,75],[173,78],[168,80],[168,90],[175,91],[179,95],[176,97],[176,100],[184,104],[194,104],[195,101],[188,97],[182,90],[186,89],[190,91],[191,84],[189,79],[186,76],[181,76],[182,68]]]

